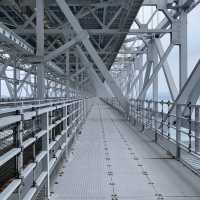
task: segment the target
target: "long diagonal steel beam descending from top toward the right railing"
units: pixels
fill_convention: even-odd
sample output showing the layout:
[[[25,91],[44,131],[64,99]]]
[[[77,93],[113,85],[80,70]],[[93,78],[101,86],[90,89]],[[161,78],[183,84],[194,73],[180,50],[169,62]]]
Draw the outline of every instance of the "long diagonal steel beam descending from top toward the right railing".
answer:
[[[78,20],[76,17],[73,15],[72,11],[70,10],[69,6],[67,5],[65,0],[56,0],[58,6],[60,7],[61,11],[73,27],[74,31],[76,32],[77,35],[80,33],[86,33],[79,24]],[[102,59],[99,57],[98,53],[96,52],[95,48],[93,47],[91,41],[89,38],[85,38],[82,40],[82,43],[86,50],[88,51],[89,55],[91,56],[92,60],[104,76],[108,86],[112,90],[113,94],[118,98],[119,102],[123,106],[125,110],[128,109],[128,100],[126,97],[123,96],[121,90],[119,87],[116,85],[115,81],[112,79],[106,65],[103,63]]]

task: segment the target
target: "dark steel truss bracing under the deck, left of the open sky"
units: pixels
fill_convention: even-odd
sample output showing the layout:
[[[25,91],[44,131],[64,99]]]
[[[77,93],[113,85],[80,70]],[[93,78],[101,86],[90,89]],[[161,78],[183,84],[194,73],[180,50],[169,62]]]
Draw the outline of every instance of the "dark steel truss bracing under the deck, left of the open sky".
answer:
[[[58,3],[66,3],[66,6],[70,7],[72,17],[81,25],[78,32],[74,29],[74,24],[70,24],[72,19],[67,18],[66,13],[64,17],[61,11],[66,6],[61,9]],[[8,60],[9,65],[11,63],[10,73],[14,74],[16,71],[17,74],[13,76],[14,78],[11,75],[8,79],[7,73],[4,75],[4,71],[8,71],[7,68],[2,71],[1,82],[2,85],[6,84],[8,90],[8,92],[2,91],[2,96],[12,99],[64,97],[69,96],[67,91],[70,90],[75,91],[76,94],[94,96],[96,93],[94,91],[97,90],[95,84],[102,85],[101,82],[106,81],[112,93],[117,95],[126,107],[127,99],[121,94],[107,69],[110,69],[114,62],[125,36],[134,32],[129,29],[141,4],[142,0],[123,2],[32,0],[12,3],[1,1],[2,23],[18,40],[26,42],[26,45],[22,45],[21,48],[21,44],[19,45],[15,40],[17,44],[10,41],[13,38],[8,40],[9,43],[1,40],[2,57],[6,57],[4,60]],[[84,44],[86,40],[89,42],[90,50],[86,45],[84,54],[92,58],[89,60],[94,64],[96,77],[101,80],[95,84],[75,48],[76,44]],[[69,51],[68,56],[66,51]],[[16,60],[15,65],[12,64],[13,60]],[[69,66],[66,67],[66,64]],[[66,85],[71,89],[66,89]],[[98,92],[98,94],[102,93]]]

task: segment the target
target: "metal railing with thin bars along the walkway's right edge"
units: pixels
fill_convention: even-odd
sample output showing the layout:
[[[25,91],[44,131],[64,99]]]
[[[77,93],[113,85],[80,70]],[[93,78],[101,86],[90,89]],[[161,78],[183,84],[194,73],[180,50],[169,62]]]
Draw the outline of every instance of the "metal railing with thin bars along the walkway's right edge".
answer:
[[[123,113],[117,98],[103,99]],[[151,133],[177,160],[200,174],[200,105],[131,99],[123,113],[140,132]]]

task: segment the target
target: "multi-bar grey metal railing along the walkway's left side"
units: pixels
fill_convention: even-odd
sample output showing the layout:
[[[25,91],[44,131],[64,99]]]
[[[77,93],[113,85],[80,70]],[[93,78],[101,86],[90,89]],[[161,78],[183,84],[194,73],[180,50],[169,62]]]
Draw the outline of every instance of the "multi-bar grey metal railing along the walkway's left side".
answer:
[[[50,192],[47,179],[67,159],[92,105],[87,98],[0,104],[0,199],[35,199],[43,183]]]

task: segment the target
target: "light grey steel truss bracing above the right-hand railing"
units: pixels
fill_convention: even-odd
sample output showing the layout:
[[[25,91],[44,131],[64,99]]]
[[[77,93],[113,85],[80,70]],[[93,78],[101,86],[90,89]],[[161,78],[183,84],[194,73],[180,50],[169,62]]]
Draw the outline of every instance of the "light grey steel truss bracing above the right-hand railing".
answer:
[[[158,75],[162,70],[166,85],[169,90],[168,99],[177,103],[196,104],[200,93],[197,82],[199,76],[195,73],[198,70],[197,63],[194,71],[188,74],[187,54],[187,17],[191,10],[199,4],[199,1],[154,1],[146,0],[135,19],[134,27],[137,31],[134,36],[129,36],[124,41],[112,69],[129,69],[133,73],[128,78],[122,70],[118,74],[117,82],[121,89],[127,88],[128,98],[158,100]],[[150,11],[147,10],[149,8]],[[145,12],[148,13],[145,15]],[[140,34],[138,34],[140,33]],[[168,35],[168,47],[164,48],[163,38]],[[176,84],[172,75],[168,57],[172,50],[179,49],[179,85]],[[191,66],[190,66],[191,67]],[[116,72],[115,73],[116,77]],[[123,75],[124,73],[124,75]],[[121,84],[123,82],[123,84]],[[151,90],[152,87],[152,90]],[[196,87],[196,88],[195,88]],[[147,94],[148,93],[148,94]]]

